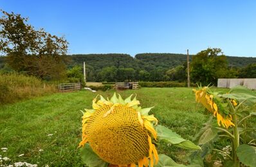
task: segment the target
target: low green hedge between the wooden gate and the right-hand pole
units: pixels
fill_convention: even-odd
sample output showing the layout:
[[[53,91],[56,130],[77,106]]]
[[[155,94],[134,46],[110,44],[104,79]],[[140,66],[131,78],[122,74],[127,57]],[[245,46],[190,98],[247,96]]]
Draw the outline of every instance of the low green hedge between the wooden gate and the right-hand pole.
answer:
[[[141,87],[186,87],[185,82],[139,82]]]

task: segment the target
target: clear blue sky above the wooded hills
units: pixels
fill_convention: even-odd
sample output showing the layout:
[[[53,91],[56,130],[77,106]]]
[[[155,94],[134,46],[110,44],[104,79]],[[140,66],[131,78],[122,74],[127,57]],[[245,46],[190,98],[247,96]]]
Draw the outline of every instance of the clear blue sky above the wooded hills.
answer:
[[[0,0],[36,29],[64,35],[69,54],[186,53],[208,47],[256,57],[256,1]]]

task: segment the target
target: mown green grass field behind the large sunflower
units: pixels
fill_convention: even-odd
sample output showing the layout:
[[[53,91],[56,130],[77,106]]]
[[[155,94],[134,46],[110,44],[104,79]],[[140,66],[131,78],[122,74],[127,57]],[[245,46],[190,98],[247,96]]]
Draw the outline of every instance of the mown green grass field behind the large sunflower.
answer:
[[[10,163],[26,161],[39,166],[82,166],[80,109],[90,109],[96,94],[112,96],[107,92],[67,92],[33,98],[0,107],[0,150]],[[152,107],[151,113],[185,139],[192,140],[208,116],[196,103],[192,89],[188,88],[142,88],[136,91],[120,91],[123,98],[137,94],[142,107]],[[185,150],[173,146],[161,146],[160,154],[170,155],[185,163]],[[20,154],[24,154],[19,157]]]

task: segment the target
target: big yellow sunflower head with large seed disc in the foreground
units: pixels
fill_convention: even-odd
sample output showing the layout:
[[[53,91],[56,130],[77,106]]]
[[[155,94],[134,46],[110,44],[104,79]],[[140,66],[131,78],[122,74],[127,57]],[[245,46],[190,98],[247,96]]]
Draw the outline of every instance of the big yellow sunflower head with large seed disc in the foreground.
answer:
[[[85,109],[82,116],[82,141],[109,164],[139,167],[158,163],[154,144],[157,138],[153,125],[158,119],[148,115],[151,108],[142,109],[136,96],[126,98],[116,94],[109,100],[96,96],[93,109]]]

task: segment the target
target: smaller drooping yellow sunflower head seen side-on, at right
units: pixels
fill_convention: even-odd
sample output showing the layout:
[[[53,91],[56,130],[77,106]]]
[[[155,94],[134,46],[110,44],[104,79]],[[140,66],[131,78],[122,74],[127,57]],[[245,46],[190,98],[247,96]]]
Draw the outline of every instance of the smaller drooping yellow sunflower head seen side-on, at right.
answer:
[[[223,107],[221,101],[218,100],[217,94],[212,93],[209,87],[199,87],[198,90],[193,89],[196,93],[197,103],[203,104],[203,106],[217,117],[217,123],[219,126],[232,127],[235,126],[232,123],[232,115],[228,114],[228,110]],[[232,104],[237,105],[235,100],[231,100]]]

